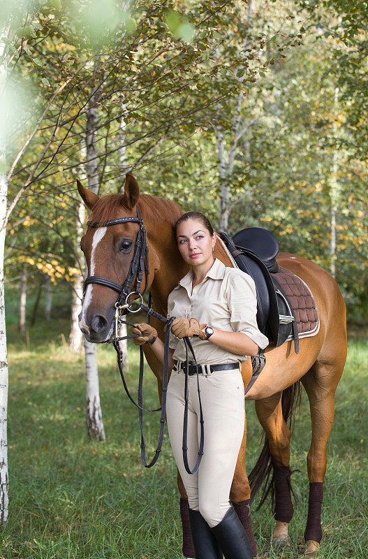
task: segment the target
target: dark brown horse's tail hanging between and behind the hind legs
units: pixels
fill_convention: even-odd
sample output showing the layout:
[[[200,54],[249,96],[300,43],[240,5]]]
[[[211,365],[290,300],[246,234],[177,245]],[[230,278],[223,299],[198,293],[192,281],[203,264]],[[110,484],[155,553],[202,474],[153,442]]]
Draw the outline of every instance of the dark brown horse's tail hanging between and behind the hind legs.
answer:
[[[281,409],[282,415],[290,430],[293,430],[295,421],[295,412],[297,407],[300,406],[300,400],[302,395],[301,383],[300,381],[295,382],[282,393],[281,397]],[[269,493],[271,492],[272,507],[274,507],[274,477],[273,477],[273,467],[271,460],[270,447],[268,444],[267,437],[265,436],[265,442],[263,444],[263,449],[260,451],[260,455],[253,467],[253,470],[249,474],[249,484],[251,486],[251,502],[255,498],[260,486],[262,486],[265,481],[265,488],[263,490],[260,503],[258,504],[257,510],[263,505],[267,499]]]

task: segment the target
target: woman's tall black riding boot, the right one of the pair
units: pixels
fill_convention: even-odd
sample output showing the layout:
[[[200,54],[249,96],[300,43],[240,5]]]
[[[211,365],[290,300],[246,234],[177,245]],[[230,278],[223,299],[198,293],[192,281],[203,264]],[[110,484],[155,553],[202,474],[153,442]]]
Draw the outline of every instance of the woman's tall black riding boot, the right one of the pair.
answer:
[[[248,536],[233,507],[212,532],[226,559],[253,559]]]

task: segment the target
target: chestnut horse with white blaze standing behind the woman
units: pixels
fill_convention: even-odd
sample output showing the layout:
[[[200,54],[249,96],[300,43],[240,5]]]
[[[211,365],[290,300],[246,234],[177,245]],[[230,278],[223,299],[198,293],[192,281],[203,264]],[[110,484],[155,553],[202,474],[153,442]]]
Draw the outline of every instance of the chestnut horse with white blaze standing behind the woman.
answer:
[[[78,191],[91,211],[89,227],[81,241],[89,276],[106,278],[114,286],[119,287],[126,280],[140,225],[136,222],[137,219],[133,222],[120,219],[119,222],[110,224],[112,226],[105,225],[109,220],[137,216],[139,208],[149,247],[149,275],[143,274],[140,291],[150,289],[155,310],[165,316],[168,294],[188,271],[177,249],[173,228],[182,215],[182,210],[177,204],[162,198],[140,195],[138,182],[132,175],[126,176],[124,194],[109,194],[99,198],[79,181]],[[221,242],[216,242],[215,256],[226,266],[233,266]],[[309,512],[304,536],[307,556],[316,557],[322,537],[321,504],[327,465],[326,444],[334,420],[334,393],[346,360],[346,310],[336,282],[325,270],[307,259],[290,254],[279,254],[277,261],[279,266],[295,273],[309,286],[318,309],[320,327],[313,337],[300,340],[298,354],[294,351],[293,342],[286,342],[278,348],[268,347],[265,368],[247,393],[246,399],[256,400],[256,413],[267,436],[263,457],[266,458],[265,463],[271,458],[275,491],[276,526],[272,541],[281,545],[287,542],[288,523],[293,515],[290,498],[290,428],[286,423],[290,409],[286,411],[286,395],[293,393],[293,386],[299,381],[307,392],[311,409],[311,445],[307,456]],[[91,342],[104,342],[112,334],[117,293],[114,287],[110,289],[111,284],[87,284],[80,314],[80,328]],[[163,339],[164,324],[155,319],[152,319],[152,324]],[[145,355],[157,377],[160,393],[162,365],[154,358],[149,347],[145,347]],[[242,375],[244,386],[247,386],[251,377],[250,360],[244,363]],[[253,554],[256,555],[256,542],[249,516],[251,488],[246,476],[245,450],[246,430],[230,499],[246,528]],[[261,463],[258,473],[260,477],[264,476],[265,467]],[[183,553],[187,557],[194,557],[186,517],[186,494],[180,479],[178,484],[183,522]]]

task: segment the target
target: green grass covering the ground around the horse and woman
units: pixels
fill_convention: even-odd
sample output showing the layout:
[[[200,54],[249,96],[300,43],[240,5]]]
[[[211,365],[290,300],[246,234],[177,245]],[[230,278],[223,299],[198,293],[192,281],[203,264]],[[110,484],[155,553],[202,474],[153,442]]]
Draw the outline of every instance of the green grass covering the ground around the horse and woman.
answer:
[[[63,336],[64,333],[64,336]],[[106,441],[90,441],[84,421],[84,361],[65,343],[66,321],[33,328],[24,339],[8,327],[10,364],[8,458],[10,510],[1,529],[1,559],[148,559],[182,557],[176,468],[165,437],[159,462],[140,463],[138,412],[122,387],[112,347],[98,347],[101,405]],[[328,444],[323,544],[325,559],[366,559],[368,549],[368,458],[366,336],[351,333],[348,363],[337,391]],[[138,382],[138,351],[131,347],[127,375]],[[145,377],[145,405],[156,407],[156,382]],[[246,405],[247,463],[254,464],[261,430],[253,404]],[[145,414],[153,456],[158,414]],[[295,557],[303,551],[308,479],[309,407],[303,398],[292,446],[297,496],[290,523],[292,548],[270,549],[272,512],[253,507],[260,557]]]

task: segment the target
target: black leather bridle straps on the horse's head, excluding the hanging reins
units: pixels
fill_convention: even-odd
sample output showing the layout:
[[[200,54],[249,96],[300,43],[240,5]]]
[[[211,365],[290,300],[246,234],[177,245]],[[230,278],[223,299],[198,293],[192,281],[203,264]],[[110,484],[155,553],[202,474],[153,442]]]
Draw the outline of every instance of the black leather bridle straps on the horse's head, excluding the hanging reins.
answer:
[[[120,285],[116,282],[112,282],[111,279],[106,279],[105,277],[100,277],[98,275],[91,275],[87,277],[84,281],[84,293],[86,291],[86,287],[89,284],[100,284],[104,285],[105,287],[110,287],[114,291],[119,293],[119,297],[117,298],[117,302],[115,303],[115,307],[117,310],[122,310],[123,308],[127,308],[130,306],[129,297],[131,295],[140,295],[140,286],[142,284],[143,273],[145,272],[145,291],[148,288],[148,279],[149,279],[149,260],[148,260],[148,245],[147,245],[147,235],[145,226],[143,225],[143,220],[140,217],[140,211],[138,210],[138,206],[135,206],[137,210],[136,216],[129,216],[129,217],[117,217],[117,219],[110,219],[108,222],[105,222],[101,226],[108,227],[112,225],[120,225],[124,223],[138,223],[139,230],[137,239],[135,240],[134,246],[134,254],[133,259],[131,261],[131,266],[128,271],[128,275],[126,276],[126,280],[124,285]],[[96,228],[100,226],[100,222],[94,222],[90,225],[91,228]],[[133,281],[135,277],[135,286],[134,289]]]

